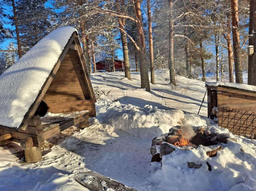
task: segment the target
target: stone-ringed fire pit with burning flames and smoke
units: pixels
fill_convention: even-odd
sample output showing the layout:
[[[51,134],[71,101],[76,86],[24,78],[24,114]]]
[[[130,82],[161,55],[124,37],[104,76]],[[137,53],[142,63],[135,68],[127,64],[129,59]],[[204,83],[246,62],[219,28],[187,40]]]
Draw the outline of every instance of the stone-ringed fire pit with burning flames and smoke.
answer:
[[[175,126],[169,130],[169,133],[155,137],[150,148],[150,153],[153,155],[151,162],[160,162],[164,155],[170,154],[177,148],[190,150],[196,149],[200,145],[209,147],[206,154],[209,157],[214,157],[219,150],[223,149],[221,143],[227,143],[228,140],[237,142],[235,138],[230,138],[227,133],[210,133],[206,129],[207,126]],[[200,165],[193,162],[188,162],[188,166],[190,168],[200,168]]]

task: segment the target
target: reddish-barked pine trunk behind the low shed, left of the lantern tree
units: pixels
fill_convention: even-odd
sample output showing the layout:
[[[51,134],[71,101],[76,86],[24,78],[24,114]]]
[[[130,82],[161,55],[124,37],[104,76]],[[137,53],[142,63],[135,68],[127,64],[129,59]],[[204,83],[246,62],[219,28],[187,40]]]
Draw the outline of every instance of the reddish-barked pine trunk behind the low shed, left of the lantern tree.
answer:
[[[231,0],[231,16],[232,16],[232,34],[233,34],[233,49],[235,62],[235,82],[243,84],[243,69],[241,61],[240,34],[238,30],[238,2]]]

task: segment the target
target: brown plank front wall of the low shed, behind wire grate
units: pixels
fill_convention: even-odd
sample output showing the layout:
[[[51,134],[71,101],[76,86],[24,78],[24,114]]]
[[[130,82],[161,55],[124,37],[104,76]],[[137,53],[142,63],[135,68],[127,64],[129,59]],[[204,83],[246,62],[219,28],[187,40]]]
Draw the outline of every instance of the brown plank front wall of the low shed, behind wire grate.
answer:
[[[235,135],[256,134],[256,96],[218,91],[219,126]]]

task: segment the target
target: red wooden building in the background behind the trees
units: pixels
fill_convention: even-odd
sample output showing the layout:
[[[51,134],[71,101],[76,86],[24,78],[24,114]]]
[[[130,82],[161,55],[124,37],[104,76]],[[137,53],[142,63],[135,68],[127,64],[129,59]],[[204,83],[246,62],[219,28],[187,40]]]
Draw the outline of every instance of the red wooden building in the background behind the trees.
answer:
[[[124,61],[118,58],[114,58],[115,60],[115,71],[123,72],[124,71]],[[108,64],[110,63],[110,64]],[[111,72],[109,65],[111,65],[111,60],[105,58],[96,62],[97,72]]]

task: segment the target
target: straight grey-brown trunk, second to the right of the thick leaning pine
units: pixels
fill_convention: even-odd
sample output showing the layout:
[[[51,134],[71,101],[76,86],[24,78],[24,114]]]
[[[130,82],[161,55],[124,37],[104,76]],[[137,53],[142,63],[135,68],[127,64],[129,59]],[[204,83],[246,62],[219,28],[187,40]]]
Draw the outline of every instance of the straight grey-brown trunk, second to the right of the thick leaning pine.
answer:
[[[174,70],[174,54],[173,54],[173,0],[168,0],[169,3],[169,72],[170,83],[176,86],[175,70]]]

